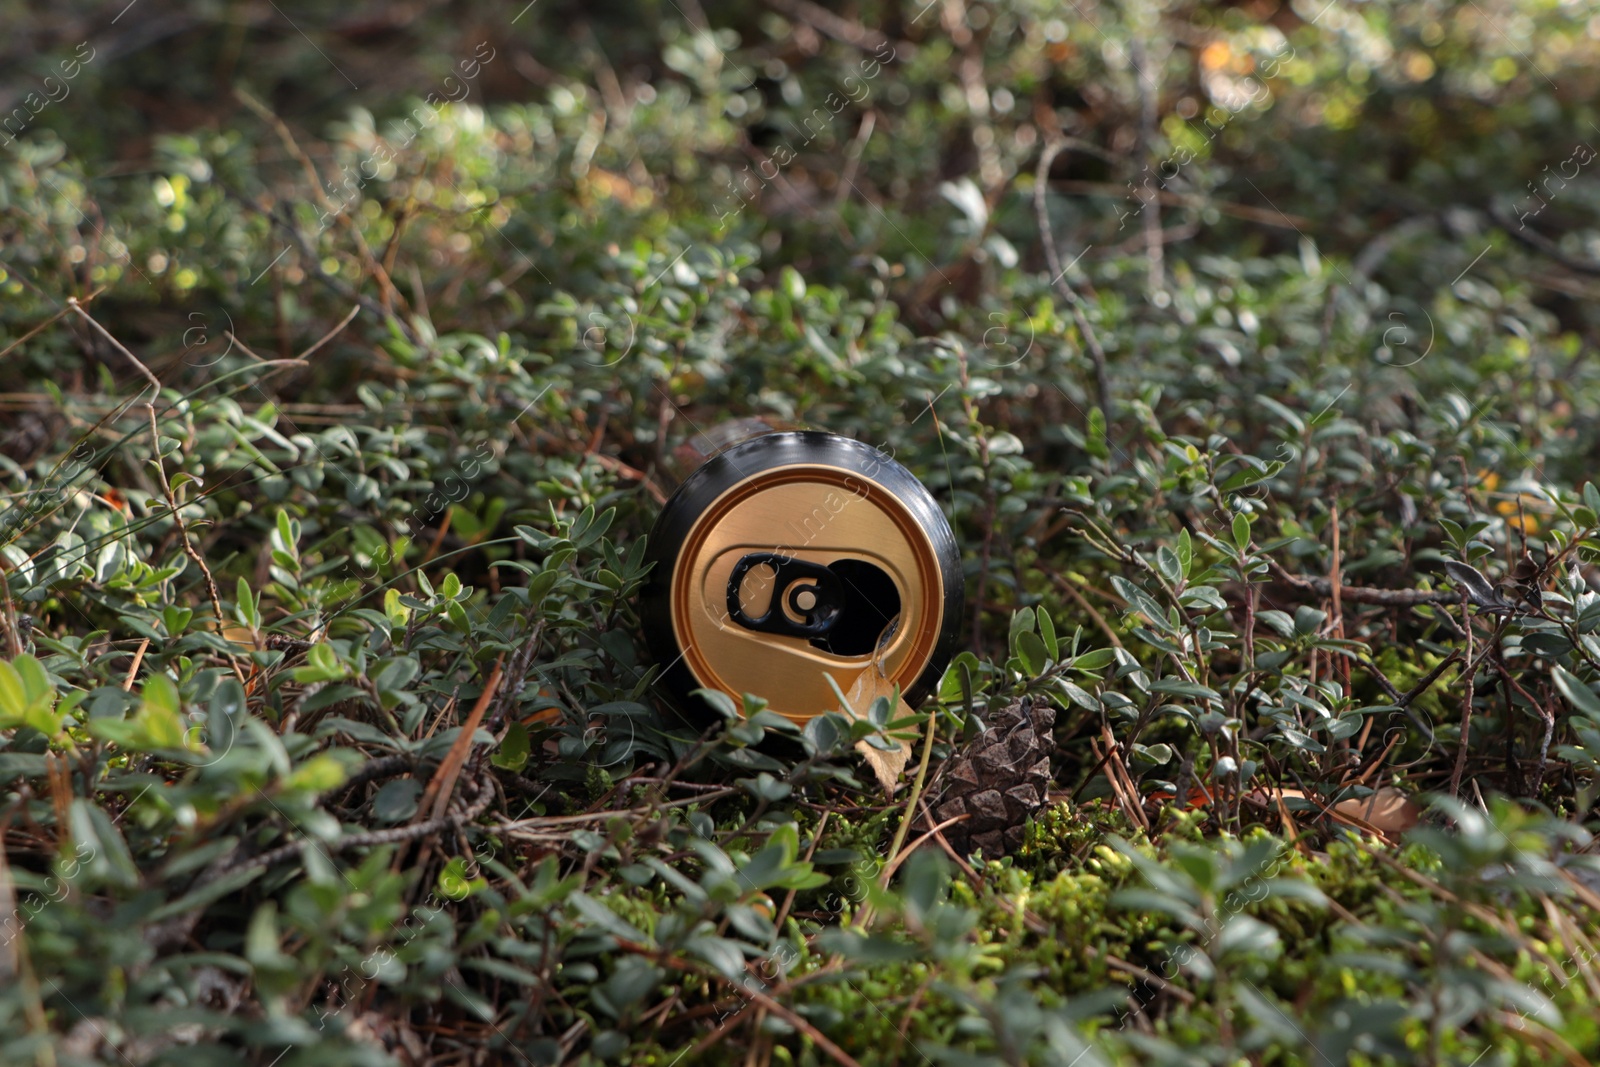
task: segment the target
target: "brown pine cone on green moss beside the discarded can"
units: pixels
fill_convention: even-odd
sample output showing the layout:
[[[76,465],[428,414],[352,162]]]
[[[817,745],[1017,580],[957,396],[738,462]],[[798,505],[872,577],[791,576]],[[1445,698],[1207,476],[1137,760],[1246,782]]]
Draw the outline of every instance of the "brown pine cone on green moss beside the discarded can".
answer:
[[[955,851],[982,849],[994,859],[1022,845],[1027,817],[1045,803],[1050,787],[1054,726],[1056,709],[1024,696],[995,710],[989,729],[944,761],[934,781],[933,817],[968,816],[944,829]]]

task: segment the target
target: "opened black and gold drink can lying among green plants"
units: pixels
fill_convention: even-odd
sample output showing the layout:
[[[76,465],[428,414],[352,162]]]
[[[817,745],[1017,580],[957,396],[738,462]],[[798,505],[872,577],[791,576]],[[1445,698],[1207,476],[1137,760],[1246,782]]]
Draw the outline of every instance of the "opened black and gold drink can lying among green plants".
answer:
[[[803,721],[838,709],[829,675],[850,691],[874,672],[920,704],[950,662],[963,587],[955,534],[915,475],[848,437],[757,421],[696,453],[709,458],[650,534],[642,597],[678,702],[750,693]]]

